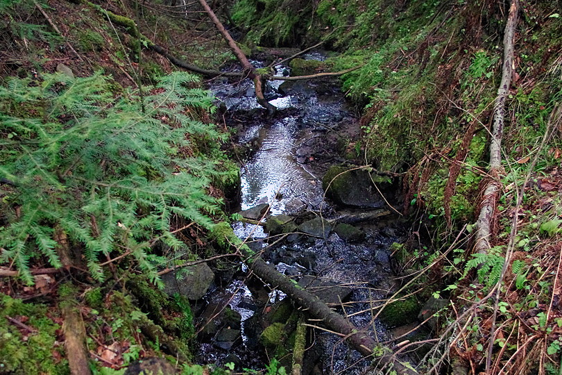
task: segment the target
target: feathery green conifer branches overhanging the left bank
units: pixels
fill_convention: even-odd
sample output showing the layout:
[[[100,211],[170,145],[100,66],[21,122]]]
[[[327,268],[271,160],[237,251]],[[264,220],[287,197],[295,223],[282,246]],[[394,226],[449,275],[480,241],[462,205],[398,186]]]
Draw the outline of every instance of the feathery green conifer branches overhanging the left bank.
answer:
[[[207,92],[188,88],[195,81],[164,76],[146,88],[144,106],[135,92],[114,97],[99,73],[0,86],[0,263],[33,283],[32,260],[61,267],[62,233],[100,281],[101,255],[124,251],[157,280],[151,242],[180,247],[171,218],[211,228],[221,203],[207,188],[225,173],[223,134],[191,115],[213,110]]]

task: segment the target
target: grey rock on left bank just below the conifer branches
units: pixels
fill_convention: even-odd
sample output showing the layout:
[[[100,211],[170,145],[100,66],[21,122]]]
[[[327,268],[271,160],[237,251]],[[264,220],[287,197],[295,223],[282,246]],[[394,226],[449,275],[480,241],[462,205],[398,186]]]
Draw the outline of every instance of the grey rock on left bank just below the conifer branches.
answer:
[[[179,269],[162,276],[164,292],[173,296],[179,293],[187,299],[201,299],[214,280],[214,273],[207,263]]]

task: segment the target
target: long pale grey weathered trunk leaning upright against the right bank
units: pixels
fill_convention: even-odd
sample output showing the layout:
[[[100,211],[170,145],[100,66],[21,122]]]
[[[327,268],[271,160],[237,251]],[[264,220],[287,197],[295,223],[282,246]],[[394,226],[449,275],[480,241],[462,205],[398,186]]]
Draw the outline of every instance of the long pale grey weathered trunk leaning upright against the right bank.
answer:
[[[486,253],[491,248],[491,223],[495,215],[497,195],[502,188],[500,177],[502,174],[502,136],[504,131],[505,99],[509,94],[509,86],[511,85],[511,76],[513,74],[513,39],[517,25],[518,8],[518,0],[512,0],[504,32],[502,81],[500,87],[497,88],[497,97],[495,98],[493,111],[490,166],[488,167],[488,174],[490,174],[491,178],[486,184],[480,213],[476,222],[475,251],[477,253]]]

